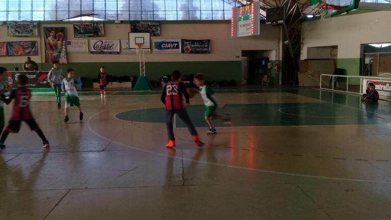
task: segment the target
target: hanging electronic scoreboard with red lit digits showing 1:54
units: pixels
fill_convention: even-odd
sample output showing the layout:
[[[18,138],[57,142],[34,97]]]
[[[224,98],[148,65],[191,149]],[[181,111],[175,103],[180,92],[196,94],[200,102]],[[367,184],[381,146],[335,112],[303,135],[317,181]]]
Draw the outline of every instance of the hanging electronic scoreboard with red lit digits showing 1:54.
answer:
[[[231,37],[259,35],[260,2],[231,9]]]

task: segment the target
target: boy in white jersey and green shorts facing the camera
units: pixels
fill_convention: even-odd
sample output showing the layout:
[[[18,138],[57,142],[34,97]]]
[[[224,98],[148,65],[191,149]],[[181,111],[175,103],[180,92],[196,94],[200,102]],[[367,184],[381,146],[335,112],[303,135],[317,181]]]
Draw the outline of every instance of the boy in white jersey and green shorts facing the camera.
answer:
[[[65,92],[65,119],[64,123],[69,121],[69,108],[73,105],[79,110],[79,120],[83,120],[83,113],[81,112],[79,95],[77,94],[77,87],[81,86],[78,79],[74,78],[73,69],[67,70],[67,77],[63,79],[61,89]]]

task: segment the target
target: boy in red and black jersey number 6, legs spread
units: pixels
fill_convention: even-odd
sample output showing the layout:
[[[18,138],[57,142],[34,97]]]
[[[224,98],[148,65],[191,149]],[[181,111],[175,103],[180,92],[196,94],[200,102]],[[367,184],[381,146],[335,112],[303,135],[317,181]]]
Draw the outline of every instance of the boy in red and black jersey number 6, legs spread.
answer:
[[[4,142],[7,139],[9,133],[18,133],[20,130],[20,125],[22,121],[26,122],[29,125],[31,130],[37,132],[39,137],[41,137],[43,142],[43,147],[49,147],[49,142],[46,140],[45,135],[42,130],[39,128],[37,122],[33,118],[33,115],[30,111],[30,99],[31,99],[31,91],[27,89],[25,85],[27,84],[27,76],[19,75],[18,76],[19,87],[11,92],[11,95],[8,99],[1,94],[1,98],[6,104],[9,104],[12,99],[15,99],[12,116],[10,121],[8,122],[7,128],[3,131],[2,136],[0,138],[0,147],[4,148]]]

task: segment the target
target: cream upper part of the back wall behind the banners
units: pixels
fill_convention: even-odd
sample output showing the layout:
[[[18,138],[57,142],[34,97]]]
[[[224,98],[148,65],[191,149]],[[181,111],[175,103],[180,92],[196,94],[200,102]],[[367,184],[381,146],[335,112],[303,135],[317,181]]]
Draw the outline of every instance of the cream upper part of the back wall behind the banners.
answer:
[[[0,42],[4,41],[39,41],[40,54],[32,57],[37,63],[44,62],[43,27],[65,26],[67,39],[73,37],[73,25],[41,24],[40,36],[35,38],[16,38],[7,36],[7,25],[0,25]],[[127,39],[130,24],[105,24],[105,37],[99,39]],[[147,62],[170,61],[240,61],[241,50],[271,50],[270,59],[275,59],[275,50],[278,45],[279,28],[261,24],[259,36],[231,39],[231,24],[218,23],[163,23],[161,36],[155,38],[171,39],[211,39],[210,54],[157,54],[146,55]],[[80,39],[80,38],[79,38]],[[151,39],[152,40],[152,39]],[[0,63],[23,63],[25,57],[1,57]],[[138,62],[135,54],[80,54],[68,53],[69,63],[80,62]]]

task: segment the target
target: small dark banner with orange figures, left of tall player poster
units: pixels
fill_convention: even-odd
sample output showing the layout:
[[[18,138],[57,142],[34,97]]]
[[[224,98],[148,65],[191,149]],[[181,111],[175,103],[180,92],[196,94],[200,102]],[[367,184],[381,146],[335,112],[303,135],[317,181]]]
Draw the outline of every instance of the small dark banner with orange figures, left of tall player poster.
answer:
[[[37,56],[37,41],[7,42],[8,56]]]

